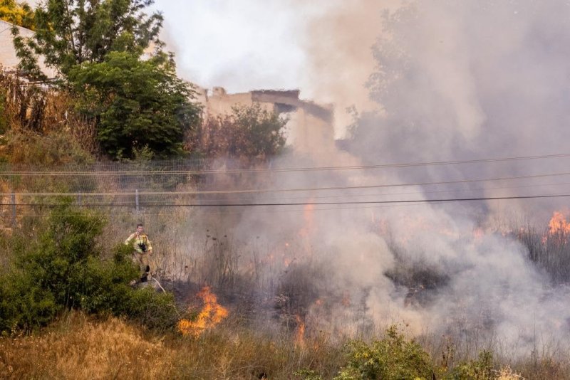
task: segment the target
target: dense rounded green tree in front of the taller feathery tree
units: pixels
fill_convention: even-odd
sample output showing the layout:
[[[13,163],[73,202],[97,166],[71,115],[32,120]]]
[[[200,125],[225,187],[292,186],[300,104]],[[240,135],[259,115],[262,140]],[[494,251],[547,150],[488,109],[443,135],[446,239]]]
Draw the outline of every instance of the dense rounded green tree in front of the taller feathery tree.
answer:
[[[144,147],[155,157],[181,154],[185,132],[199,120],[192,86],[160,58],[111,52],[101,63],[76,65],[69,78],[78,109],[96,120],[98,141],[115,158]]]

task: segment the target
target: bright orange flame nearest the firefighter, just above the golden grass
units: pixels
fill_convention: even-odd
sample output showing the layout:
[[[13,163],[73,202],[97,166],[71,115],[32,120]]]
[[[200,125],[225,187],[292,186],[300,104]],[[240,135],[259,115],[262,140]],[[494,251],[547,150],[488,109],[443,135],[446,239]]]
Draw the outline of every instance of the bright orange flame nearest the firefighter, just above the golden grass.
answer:
[[[209,286],[204,286],[196,297],[204,302],[204,307],[202,307],[196,320],[182,319],[178,321],[177,324],[178,331],[185,336],[194,335],[197,337],[204,332],[204,330],[212,328],[219,322],[222,322],[228,315],[227,309],[217,303],[217,297],[214,293],[210,292]]]

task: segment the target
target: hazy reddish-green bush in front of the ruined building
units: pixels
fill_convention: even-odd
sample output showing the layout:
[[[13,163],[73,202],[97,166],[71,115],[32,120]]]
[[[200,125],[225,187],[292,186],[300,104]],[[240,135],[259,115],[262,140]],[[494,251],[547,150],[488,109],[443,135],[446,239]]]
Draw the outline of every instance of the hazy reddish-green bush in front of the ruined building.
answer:
[[[232,108],[232,114],[209,117],[192,130],[187,145],[190,152],[202,157],[265,159],[283,149],[286,122],[257,103],[238,105]]]

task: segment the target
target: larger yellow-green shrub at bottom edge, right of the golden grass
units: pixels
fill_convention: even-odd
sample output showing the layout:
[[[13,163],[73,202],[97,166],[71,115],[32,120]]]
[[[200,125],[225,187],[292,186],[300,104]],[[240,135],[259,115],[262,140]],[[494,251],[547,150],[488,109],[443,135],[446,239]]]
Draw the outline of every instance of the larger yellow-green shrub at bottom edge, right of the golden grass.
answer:
[[[392,326],[379,341],[348,343],[348,363],[335,379],[432,379],[433,373],[430,355]]]

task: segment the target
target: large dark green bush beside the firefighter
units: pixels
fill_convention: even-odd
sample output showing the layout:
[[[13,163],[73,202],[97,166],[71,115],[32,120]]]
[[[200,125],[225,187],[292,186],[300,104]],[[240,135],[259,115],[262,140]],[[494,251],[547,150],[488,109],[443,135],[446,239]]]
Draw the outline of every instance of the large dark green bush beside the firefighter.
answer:
[[[139,274],[129,247],[120,244],[113,259],[101,259],[103,226],[97,213],[61,206],[37,236],[11,239],[9,268],[0,272],[1,332],[31,331],[70,309],[126,315],[148,327],[175,324],[172,295],[128,285]]]

